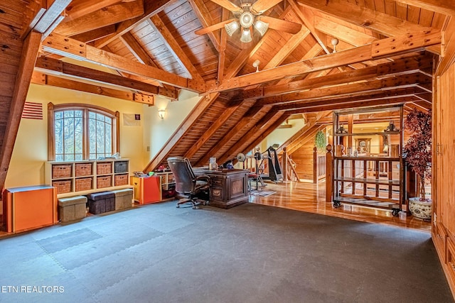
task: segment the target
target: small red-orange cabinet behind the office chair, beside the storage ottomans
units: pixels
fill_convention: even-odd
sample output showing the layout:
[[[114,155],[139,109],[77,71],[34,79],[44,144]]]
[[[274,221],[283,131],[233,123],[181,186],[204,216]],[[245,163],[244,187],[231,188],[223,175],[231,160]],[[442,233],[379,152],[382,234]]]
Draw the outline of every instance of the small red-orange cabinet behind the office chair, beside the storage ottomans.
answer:
[[[134,187],[134,200],[139,204],[149,204],[161,201],[161,177],[131,177]]]

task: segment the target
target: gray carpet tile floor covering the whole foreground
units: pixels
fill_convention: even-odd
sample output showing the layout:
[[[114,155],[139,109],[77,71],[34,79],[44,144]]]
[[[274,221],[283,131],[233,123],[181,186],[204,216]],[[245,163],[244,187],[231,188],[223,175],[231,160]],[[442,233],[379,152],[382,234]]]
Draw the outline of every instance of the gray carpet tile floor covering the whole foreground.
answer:
[[[149,204],[0,251],[0,285],[64,289],[0,302],[454,302],[428,233],[257,204]]]

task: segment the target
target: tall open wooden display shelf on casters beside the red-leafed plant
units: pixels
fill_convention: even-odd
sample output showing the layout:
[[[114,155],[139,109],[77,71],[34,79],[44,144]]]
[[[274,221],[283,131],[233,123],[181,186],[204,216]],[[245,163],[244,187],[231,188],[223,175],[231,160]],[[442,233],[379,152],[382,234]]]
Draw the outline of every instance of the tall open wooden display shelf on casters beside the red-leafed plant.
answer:
[[[363,116],[383,117],[382,123],[367,124]],[[406,210],[402,129],[402,106],[334,112],[333,206],[392,209],[394,216]]]

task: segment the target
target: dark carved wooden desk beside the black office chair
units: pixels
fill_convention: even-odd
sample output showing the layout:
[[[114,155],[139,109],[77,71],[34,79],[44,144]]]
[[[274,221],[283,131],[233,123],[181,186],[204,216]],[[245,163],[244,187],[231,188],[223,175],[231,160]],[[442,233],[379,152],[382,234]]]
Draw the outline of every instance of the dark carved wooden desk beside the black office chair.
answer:
[[[196,175],[210,177],[210,206],[229,209],[248,202],[250,170],[208,170],[193,168]]]

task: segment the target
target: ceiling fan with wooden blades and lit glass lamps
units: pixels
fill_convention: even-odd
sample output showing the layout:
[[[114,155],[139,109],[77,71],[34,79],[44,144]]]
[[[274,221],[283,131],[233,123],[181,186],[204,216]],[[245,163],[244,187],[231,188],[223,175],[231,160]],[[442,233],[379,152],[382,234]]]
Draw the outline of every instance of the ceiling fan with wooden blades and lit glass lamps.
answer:
[[[229,0],[210,1],[215,2],[216,4],[231,11],[235,18],[213,24],[213,26],[201,28],[200,30],[195,31],[197,35],[204,35],[205,33],[210,33],[211,31],[216,31],[224,27],[226,33],[232,36],[237,29],[242,28],[240,41],[248,43],[252,41],[253,26],[261,35],[264,35],[268,28],[272,28],[277,31],[285,31],[291,34],[299,33],[301,30],[301,24],[299,23],[272,18],[269,16],[260,16],[264,13],[264,11],[267,11],[283,0],[257,0],[254,4],[242,3],[240,6],[233,4]]]

